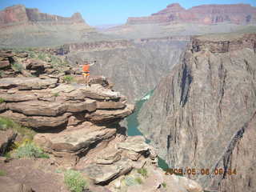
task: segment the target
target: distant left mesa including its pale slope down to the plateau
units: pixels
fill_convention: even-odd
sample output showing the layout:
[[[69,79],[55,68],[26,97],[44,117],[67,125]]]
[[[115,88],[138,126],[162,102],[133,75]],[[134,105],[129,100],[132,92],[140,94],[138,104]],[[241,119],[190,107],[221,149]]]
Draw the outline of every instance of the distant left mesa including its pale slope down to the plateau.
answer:
[[[61,46],[102,38],[107,37],[88,26],[79,13],[65,18],[22,5],[0,11],[0,47]]]

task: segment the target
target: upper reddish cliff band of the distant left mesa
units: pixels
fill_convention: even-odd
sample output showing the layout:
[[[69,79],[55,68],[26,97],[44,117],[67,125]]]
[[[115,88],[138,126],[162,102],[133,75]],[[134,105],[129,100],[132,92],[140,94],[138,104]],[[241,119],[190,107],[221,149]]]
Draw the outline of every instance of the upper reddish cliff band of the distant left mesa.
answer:
[[[38,9],[26,8],[23,5],[9,6],[0,11],[0,27],[16,26],[24,24],[86,24],[82,15],[73,14],[70,18],[54,14],[43,14]]]

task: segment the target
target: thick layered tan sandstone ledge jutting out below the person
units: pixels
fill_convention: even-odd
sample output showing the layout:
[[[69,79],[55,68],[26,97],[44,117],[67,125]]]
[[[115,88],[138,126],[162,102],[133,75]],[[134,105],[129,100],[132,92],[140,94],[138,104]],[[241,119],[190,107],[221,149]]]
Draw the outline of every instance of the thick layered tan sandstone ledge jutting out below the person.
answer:
[[[126,105],[124,96],[100,84],[86,87],[57,82],[58,78],[1,78],[0,97],[4,102],[0,116],[38,130],[51,130],[65,129],[68,122],[70,126],[86,121],[106,124],[133,113],[134,106]]]

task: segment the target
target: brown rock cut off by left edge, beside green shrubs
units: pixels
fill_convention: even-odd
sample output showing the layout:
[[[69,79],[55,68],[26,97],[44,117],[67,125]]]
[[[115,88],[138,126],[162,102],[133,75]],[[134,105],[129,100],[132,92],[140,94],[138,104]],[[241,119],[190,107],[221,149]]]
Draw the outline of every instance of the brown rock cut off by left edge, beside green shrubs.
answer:
[[[14,130],[2,130],[5,128],[0,125],[0,156],[5,154],[8,147],[10,147],[17,137],[17,133],[14,133]]]

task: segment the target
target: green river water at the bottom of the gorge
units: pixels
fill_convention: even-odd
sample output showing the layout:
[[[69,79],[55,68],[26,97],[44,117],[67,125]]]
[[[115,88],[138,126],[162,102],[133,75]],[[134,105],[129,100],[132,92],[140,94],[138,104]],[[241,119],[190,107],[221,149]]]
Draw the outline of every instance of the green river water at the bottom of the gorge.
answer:
[[[149,98],[150,95],[153,94],[153,90],[150,91],[149,94],[146,94],[146,96],[144,98]],[[135,135],[142,135],[142,132],[140,130],[138,130],[138,112],[139,110],[142,108],[143,104],[147,101],[147,99],[142,99],[139,100],[138,102],[136,102],[136,107],[135,107],[135,112],[134,114],[131,114],[128,118],[126,118],[127,121],[127,126],[128,126],[128,130],[127,130],[127,134],[128,136],[135,136]],[[150,143],[149,139],[146,139],[146,143]],[[162,170],[166,170],[169,168],[169,166],[167,165],[167,163],[165,162],[165,160],[163,160],[162,158],[158,157],[158,166],[162,168]]]

